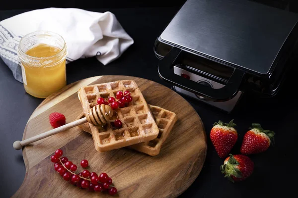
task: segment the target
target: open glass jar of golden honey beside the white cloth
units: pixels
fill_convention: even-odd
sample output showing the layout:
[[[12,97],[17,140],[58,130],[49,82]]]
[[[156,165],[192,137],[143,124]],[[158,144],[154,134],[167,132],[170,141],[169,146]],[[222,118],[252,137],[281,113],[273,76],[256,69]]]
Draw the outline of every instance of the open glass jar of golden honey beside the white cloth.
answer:
[[[25,91],[47,98],[66,86],[67,46],[64,39],[49,31],[36,31],[21,38],[17,50]]]

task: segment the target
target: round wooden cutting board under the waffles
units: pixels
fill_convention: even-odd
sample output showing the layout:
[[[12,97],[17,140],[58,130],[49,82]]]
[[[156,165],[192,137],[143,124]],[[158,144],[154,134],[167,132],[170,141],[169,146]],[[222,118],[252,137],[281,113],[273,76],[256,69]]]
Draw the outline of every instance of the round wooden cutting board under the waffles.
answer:
[[[23,148],[26,175],[13,197],[112,197],[104,193],[79,189],[54,169],[50,156],[60,148],[64,156],[82,170],[80,161],[89,161],[90,172],[106,172],[121,198],[172,198],[183,193],[198,177],[207,153],[206,134],[200,116],[174,91],[149,80],[131,76],[96,76],[68,85],[61,92],[45,99],[33,112],[24,130],[23,140],[51,130],[49,114],[60,112],[72,122],[82,112],[77,98],[80,87],[135,80],[149,104],[173,111],[178,121],[157,156],[120,148],[97,152],[90,134],[74,127],[32,143]]]

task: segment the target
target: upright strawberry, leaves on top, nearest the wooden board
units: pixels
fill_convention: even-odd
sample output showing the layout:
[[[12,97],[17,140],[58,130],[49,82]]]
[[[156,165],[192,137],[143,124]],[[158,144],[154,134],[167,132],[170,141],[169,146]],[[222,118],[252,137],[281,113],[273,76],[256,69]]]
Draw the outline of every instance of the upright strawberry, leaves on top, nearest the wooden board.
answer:
[[[220,120],[214,123],[211,129],[211,142],[221,158],[225,157],[237,142],[238,133],[234,126],[236,124],[233,123],[233,120],[228,124]]]

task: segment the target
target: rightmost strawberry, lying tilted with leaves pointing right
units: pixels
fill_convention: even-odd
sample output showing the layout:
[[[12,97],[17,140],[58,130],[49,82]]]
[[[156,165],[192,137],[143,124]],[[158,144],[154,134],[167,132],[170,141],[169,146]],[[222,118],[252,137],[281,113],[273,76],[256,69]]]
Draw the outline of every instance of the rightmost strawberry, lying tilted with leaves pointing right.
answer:
[[[244,134],[240,151],[242,154],[264,152],[274,143],[274,132],[264,130],[260,124],[253,123],[250,130]]]

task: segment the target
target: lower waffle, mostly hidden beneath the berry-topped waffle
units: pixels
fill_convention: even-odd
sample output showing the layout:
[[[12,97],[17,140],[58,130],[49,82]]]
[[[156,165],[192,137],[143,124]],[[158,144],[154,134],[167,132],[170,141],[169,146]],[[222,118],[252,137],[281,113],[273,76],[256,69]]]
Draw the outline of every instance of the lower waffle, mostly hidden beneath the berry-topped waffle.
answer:
[[[154,140],[132,145],[132,146],[129,146],[129,148],[154,156],[159,154],[160,148],[163,142],[168,137],[178,117],[174,112],[168,111],[158,106],[152,106],[149,104],[149,108],[153,114],[154,120],[159,129],[158,136]],[[81,113],[77,119],[81,119],[83,117],[84,117],[84,113]],[[88,126],[88,123],[79,125],[79,128],[81,128],[85,132],[90,133],[90,128]]]

